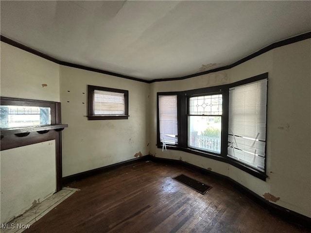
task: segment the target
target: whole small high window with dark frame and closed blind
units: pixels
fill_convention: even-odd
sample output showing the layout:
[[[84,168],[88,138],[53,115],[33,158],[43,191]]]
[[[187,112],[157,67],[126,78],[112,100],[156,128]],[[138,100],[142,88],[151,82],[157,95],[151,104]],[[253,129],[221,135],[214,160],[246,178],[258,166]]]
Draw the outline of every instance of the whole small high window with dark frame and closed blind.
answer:
[[[88,85],[88,119],[127,119],[128,91]]]

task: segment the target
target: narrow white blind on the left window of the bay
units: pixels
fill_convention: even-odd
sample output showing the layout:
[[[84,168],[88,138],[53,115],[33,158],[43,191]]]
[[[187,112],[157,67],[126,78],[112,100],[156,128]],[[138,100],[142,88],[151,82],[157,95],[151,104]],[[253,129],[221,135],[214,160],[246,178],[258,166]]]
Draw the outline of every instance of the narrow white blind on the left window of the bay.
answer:
[[[159,96],[160,141],[177,144],[177,95]]]

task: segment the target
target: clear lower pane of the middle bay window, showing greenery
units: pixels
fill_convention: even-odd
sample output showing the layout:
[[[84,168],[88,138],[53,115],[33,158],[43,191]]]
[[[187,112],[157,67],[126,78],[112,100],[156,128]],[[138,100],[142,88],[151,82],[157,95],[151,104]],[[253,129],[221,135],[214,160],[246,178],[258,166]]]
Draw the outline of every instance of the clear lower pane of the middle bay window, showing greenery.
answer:
[[[221,116],[188,116],[188,145],[219,153],[221,151]]]

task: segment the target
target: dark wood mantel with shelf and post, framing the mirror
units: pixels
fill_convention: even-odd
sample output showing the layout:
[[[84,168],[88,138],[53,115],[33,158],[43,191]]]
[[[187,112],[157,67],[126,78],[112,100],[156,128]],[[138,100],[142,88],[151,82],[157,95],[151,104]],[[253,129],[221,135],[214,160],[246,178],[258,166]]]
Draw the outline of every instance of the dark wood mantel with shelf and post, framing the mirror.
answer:
[[[38,127],[23,127],[1,130],[1,150],[32,145],[35,143],[55,140],[56,153],[56,191],[62,189],[62,135],[61,131],[67,124],[61,124],[60,102],[43,100],[26,100],[0,97],[1,105],[36,106],[51,108],[51,125]]]

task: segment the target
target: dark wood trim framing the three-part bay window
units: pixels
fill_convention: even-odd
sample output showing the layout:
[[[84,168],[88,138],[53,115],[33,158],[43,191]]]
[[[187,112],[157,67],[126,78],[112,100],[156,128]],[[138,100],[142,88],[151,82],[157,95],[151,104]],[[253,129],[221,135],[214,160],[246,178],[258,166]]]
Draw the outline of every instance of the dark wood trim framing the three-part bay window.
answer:
[[[158,114],[158,96],[161,95],[177,95],[177,112],[178,112],[178,144],[177,145],[166,145],[168,150],[181,150],[191,154],[199,155],[202,157],[222,161],[228,163],[232,166],[235,166],[257,178],[260,180],[266,181],[268,177],[266,175],[266,171],[261,172],[256,170],[251,166],[247,166],[239,161],[231,159],[227,157],[227,140],[228,140],[228,110],[229,110],[229,88],[259,81],[261,79],[268,78],[268,73],[260,74],[236,83],[230,83],[220,86],[212,86],[194,90],[187,90],[182,92],[158,92],[157,93],[157,148],[162,149],[162,143],[160,142],[159,135],[159,114]],[[211,94],[211,93],[221,93],[223,95],[223,115],[222,115],[222,146],[221,146],[221,154],[207,152],[205,150],[198,150],[194,148],[188,147],[188,118],[187,106],[189,105],[189,97]],[[266,160],[265,160],[266,161]]]

